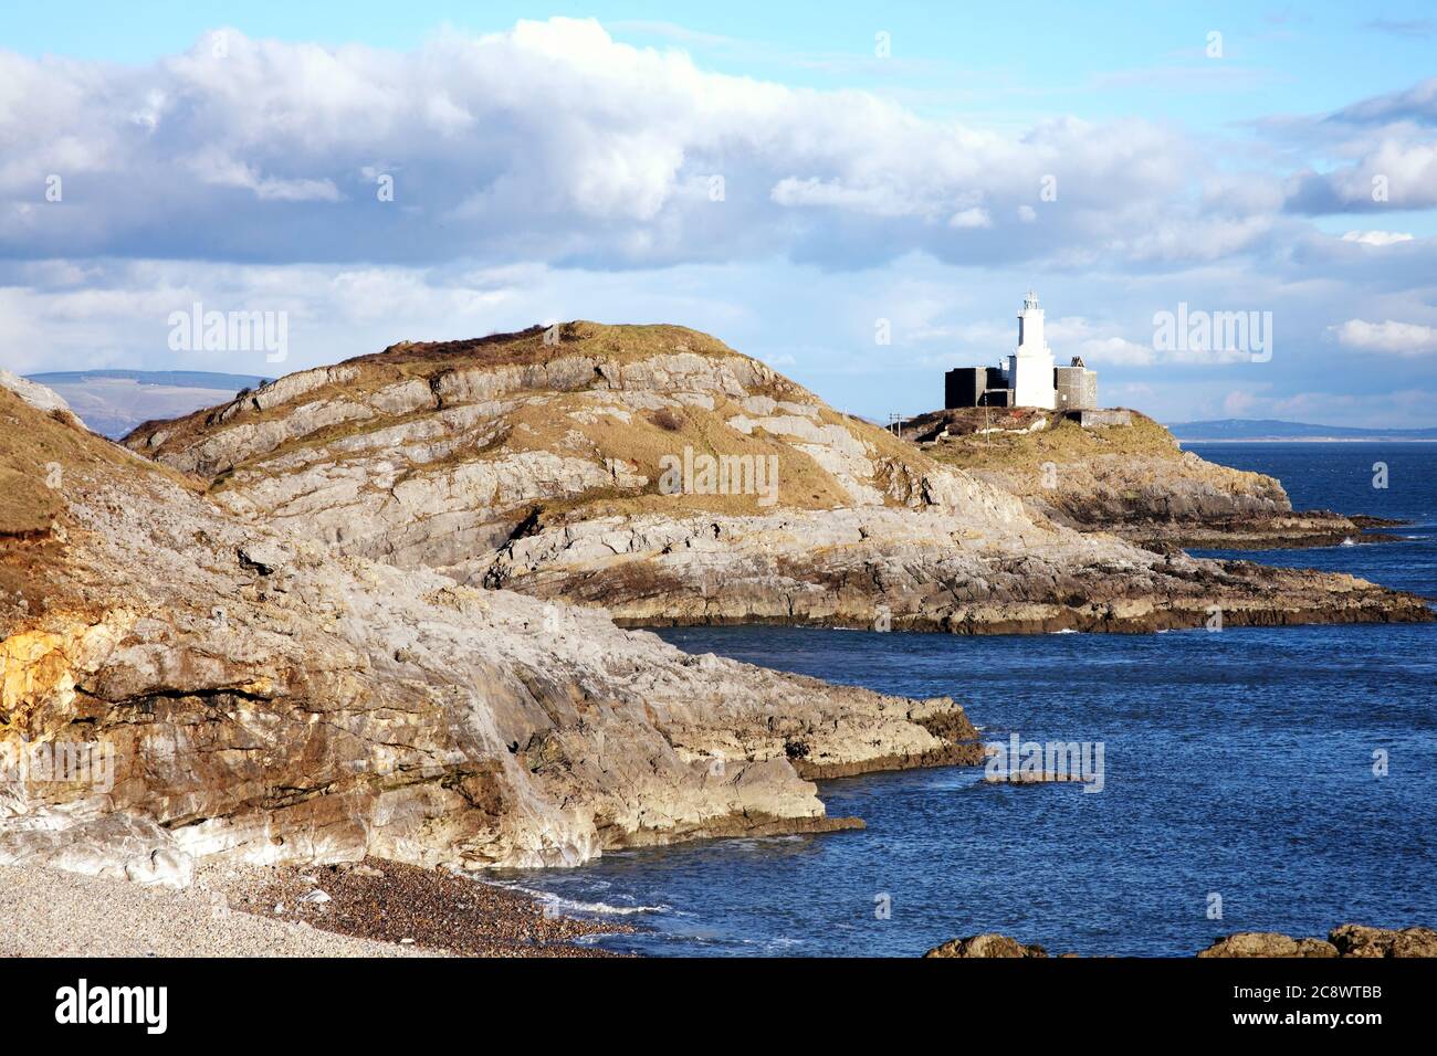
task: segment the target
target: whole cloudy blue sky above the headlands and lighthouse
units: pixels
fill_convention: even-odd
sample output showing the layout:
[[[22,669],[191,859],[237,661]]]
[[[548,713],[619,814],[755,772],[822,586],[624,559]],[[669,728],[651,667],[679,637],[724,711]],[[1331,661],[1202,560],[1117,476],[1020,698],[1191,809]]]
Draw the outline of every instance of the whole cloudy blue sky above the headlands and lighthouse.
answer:
[[[667,322],[887,420],[1032,289],[1105,405],[1437,425],[1437,9],[1086,7],[10,9],[0,366]]]

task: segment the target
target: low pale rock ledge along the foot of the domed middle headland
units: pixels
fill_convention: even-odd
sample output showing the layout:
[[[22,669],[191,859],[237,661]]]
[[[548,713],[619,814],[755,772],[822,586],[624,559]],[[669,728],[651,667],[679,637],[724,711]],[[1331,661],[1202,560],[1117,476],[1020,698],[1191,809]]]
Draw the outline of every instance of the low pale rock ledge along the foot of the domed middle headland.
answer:
[[[595,517],[451,572],[629,625],[1036,634],[1430,618],[1423,599],[1352,576],[1157,555],[1017,516],[1004,534],[966,509]]]

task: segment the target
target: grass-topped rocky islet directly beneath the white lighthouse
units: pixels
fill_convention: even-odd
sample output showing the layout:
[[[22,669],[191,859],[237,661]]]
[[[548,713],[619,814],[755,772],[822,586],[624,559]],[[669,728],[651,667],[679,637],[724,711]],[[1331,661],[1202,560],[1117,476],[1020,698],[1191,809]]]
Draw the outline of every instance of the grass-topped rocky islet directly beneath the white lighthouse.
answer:
[[[1273,477],[1206,461],[1147,415],[1128,415],[1129,425],[1082,428],[1053,411],[958,408],[912,418],[902,435],[1035,516],[1150,547],[1329,546],[1362,534],[1348,517],[1295,511]]]

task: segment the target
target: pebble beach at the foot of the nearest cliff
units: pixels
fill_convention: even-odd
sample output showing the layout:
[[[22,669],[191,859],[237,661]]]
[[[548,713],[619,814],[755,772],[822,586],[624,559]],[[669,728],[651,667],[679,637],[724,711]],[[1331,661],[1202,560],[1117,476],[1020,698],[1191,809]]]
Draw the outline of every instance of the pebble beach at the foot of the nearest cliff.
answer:
[[[466,876],[368,859],[223,866],[175,891],[0,866],[0,957],[602,957],[575,945],[622,930],[549,917]]]

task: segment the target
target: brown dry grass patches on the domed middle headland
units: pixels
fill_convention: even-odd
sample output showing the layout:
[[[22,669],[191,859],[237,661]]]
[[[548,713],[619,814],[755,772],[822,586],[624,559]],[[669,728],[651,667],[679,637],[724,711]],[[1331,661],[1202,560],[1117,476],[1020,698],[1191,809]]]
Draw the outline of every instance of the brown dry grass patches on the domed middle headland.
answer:
[[[241,424],[254,424],[292,414],[299,404],[326,399],[358,399],[402,378],[433,379],[456,368],[502,368],[514,363],[552,362],[560,358],[595,356],[621,363],[642,362],[655,356],[694,353],[721,359],[747,359],[721,341],[683,326],[605,326],[589,322],[565,323],[559,328],[559,342],[546,345],[545,332],[530,328],[519,333],[491,335],[476,341],[401,343],[382,353],[349,359],[343,365],[359,366],[361,374],[349,382],[328,384],[302,394],[290,402],[234,414],[220,425],[211,425],[210,411],[200,411],[187,420],[167,424],[171,434],[167,448],[195,443],[205,434],[223,432]],[[410,473],[428,474],[460,463],[502,460],[527,451],[545,451],[560,457],[576,457],[588,461],[615,460],[624,463],[621,474],[638,474],[648,478],[642,493],[615,486],[599,491],[586,491],[563,500],[546,503],[545,516],[562,516],[565,511],[583,507],[588,514],[595,509],[614,513],[665,513],[711,511],[723,514],[753,514],[772,511],[776,507],[832,509],[852,503],[848,491],[818,461],[798,445],[793,437],[766,434],[756,428],[752,434],[740,432],[727,422],[737,415],[756,417],[720,392],[710,392],[713,409],[685,404],[644,409],[632,401],[625,401],[621,392],[608,389],[604,379],[593,388],[578,391],[519,391],[510,397],[510,409],[497,430],[483,443],[461,447],[438,460],[417,460]],[[750,395],[769,395],[779,401],[793,401],[816,405],[818,425],[838,425],[852,435],[867,441],[877,460],[891,460],[907,467],[914,476],[931,468],[928,457],[891,432],[856,418],[848,418],[828,408],[813,394],[786,378],[773,375],[772,381],[750,386]],[[667,395],[655,389],[654,395]],[[332,445],[336,441],[362,435],[394,425],[424,420],[434,412],[428,408],[397,415],[376,415],[349,422],[328,425],[302,437],[295,437],[272,451],[240,463],[237,468],[264,471],[264,466],[295,451],[309,451]],[[782,411],[779,414],[783,414]],[[660,494],[660,477],[664,471],[661,460],[665,455],[683,458],[685,448],[694,455],[726,458],[777,457],[777,501],[760,503],[759,494]],[[345,454],[332,451],[336,460],[366,458],[366,451]],[[402,448],[392,454],[402,455]],[[764,464],[767,468],[767,463]],[[223,490],[231,484],[231,473],[220,474],[211,484]],[[598,504],[596,507],[593,504]]]

